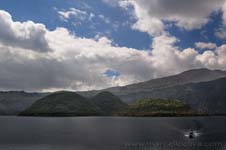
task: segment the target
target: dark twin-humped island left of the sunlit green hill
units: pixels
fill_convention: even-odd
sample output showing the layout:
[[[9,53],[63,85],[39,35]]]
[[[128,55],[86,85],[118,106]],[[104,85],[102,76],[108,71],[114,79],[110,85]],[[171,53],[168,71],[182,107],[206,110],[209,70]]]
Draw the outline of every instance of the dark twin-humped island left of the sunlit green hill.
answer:
[[[127,107],[117,96],[101,92],[91,99],[75,92],[48,95],[21,112],[23,116],[96,116],[113,115]]]

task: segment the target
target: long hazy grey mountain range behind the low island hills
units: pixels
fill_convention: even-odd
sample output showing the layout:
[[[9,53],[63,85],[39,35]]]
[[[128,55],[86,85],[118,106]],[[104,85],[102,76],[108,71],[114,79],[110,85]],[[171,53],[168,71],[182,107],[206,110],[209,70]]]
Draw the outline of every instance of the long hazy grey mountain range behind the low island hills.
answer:
[[[147,98],[177,99],[200,112],[226,114],[225,89],[226,71],[194,69],[122,87],[76,92],[76,95],[83,96],[89,101],[92,99],[92,103],[99,109],[98,112],[102,111],[106,114],[113,112],[107,112],[108,109],[116,111],[116,108],[125,106],[125,103],[131,104]],[[59,94],[59,92],[56,93]],[[32,104],[39,100],[46,100],[46,97],[49,99],[48,95],[56,93],[0,92],[0,114],[16,115],[32,107]],[[108,99],[105,98],[105,94]],[[111,97],[114,97],[114,102]],[[65,101],[65,99],[61,97],[58,101]],[[116,105],[114,105],[115,102]]]

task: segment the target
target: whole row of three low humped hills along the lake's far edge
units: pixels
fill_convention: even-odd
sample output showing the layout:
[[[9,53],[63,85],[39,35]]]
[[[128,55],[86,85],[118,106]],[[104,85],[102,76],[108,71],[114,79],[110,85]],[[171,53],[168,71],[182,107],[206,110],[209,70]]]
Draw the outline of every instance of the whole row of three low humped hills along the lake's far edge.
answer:
[[[127,105],[110,92],[87,99],[74,92],[57,92],[36,101],[23,116],[194,116],[201,115],[179,100],[144,99]]]

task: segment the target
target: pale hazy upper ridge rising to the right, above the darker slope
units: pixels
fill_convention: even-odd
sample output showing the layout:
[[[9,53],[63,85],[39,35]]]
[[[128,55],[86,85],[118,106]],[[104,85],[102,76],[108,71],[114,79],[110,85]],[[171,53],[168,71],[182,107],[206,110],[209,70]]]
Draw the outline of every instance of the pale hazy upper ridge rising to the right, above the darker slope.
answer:
[[[183,73],[180,73],[174,76],[153,79],[146,82],[127,85],[123,87],[108,88],[108,89],[104,89],[104,91],[109,91],[114,95],[119,96],[123,101],[130,103],[135,100],[144,98],[139,93],[151,92],[156,89],[173,87],[173,86],[183,85],[187,83],[199,83],[204,81],[212,81],[212,80],[223,78],[223,77],[226,77],[225,71],[194,69],[194,70],[185,71]],[[93,95],[99,92],[101,92],[101,90],[79,92],[79,94],[86,97],[92,97]],[[136,95],[137,93],[138,95]]]

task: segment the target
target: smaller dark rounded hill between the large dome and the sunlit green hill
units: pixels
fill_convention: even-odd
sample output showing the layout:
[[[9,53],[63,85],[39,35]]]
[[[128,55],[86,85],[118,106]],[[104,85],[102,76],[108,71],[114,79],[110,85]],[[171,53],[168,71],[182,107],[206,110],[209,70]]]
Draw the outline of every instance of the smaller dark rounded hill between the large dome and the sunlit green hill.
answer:
[[[127,107],[126,103],[110,92],[101,92],[94,96],[91,101],[101,109],[104,115],[116,113]]]

